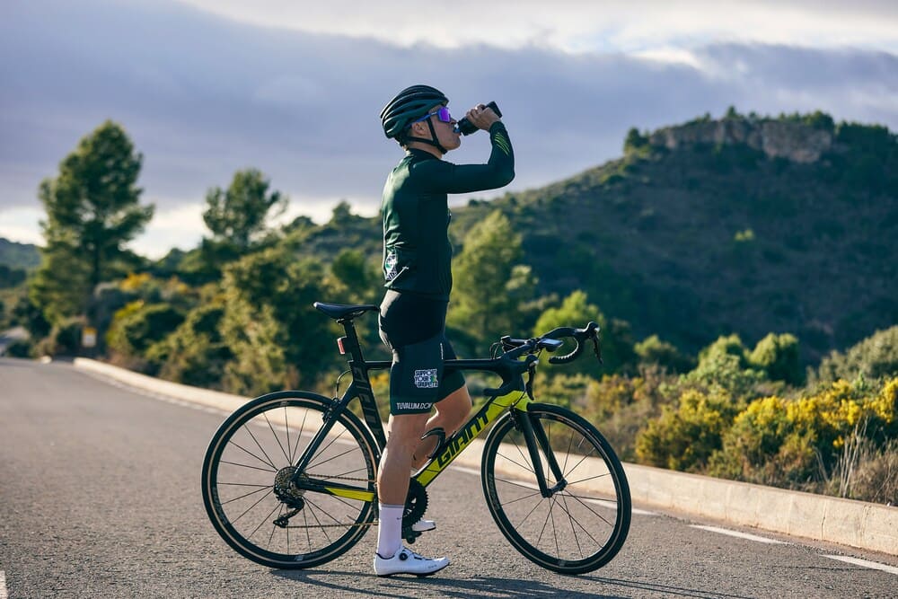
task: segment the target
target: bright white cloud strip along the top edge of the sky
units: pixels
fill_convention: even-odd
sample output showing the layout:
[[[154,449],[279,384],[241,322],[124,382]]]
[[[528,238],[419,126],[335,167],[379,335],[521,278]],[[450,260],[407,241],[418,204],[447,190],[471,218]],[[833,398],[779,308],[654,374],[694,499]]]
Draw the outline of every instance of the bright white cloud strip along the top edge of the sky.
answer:
[[[433,6],[409,0],[181,1],[236,22],[406,47],[427,43],[462,48],[488,43],[498,48],[629,52],[728,40],[898,49],[898,8],[890,0],[455,0]]]

